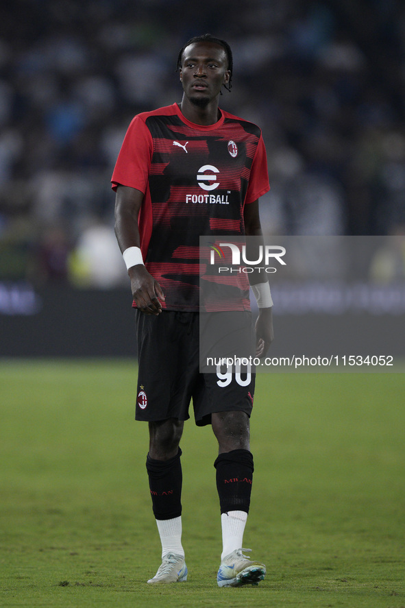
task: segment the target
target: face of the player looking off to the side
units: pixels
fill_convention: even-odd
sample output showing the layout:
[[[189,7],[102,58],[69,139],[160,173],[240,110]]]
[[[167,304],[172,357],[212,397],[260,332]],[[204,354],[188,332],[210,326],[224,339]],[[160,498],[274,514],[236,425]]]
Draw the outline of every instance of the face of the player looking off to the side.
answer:
[[[184,49],[180,80],[192,104],[208,105],[229,79],[228,58],[223,47],[213,42],[194,42]]]

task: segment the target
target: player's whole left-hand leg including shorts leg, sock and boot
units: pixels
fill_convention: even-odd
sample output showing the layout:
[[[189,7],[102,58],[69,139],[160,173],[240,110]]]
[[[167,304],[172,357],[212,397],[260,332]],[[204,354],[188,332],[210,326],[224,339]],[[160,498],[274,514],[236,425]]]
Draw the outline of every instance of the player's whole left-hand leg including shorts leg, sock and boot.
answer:
[[[137,314],[138,400],[136,419],[149,423],[147,474],[162,543],[162,566],[149,583],[186,580],[182,547],[180,439],[191,398],[187,347],[191,313]]]

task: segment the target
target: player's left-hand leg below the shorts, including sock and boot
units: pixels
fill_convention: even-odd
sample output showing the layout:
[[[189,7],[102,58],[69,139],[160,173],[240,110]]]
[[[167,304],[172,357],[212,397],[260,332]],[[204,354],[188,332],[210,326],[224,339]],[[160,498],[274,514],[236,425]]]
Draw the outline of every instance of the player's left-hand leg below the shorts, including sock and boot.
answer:
[[[146,467],[152,507],[162,544],[162,565],[148,583],[186,581],[182,546],[182,465],[179,443],[184,422],[171,418],[149,422]]]

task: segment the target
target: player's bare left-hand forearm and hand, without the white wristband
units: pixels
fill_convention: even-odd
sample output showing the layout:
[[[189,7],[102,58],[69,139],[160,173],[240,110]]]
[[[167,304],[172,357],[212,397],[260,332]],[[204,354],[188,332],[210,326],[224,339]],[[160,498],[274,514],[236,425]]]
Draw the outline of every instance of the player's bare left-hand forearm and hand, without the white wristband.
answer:
[[[140,247],[138,215],[143,193],[129,186],[117,186],[115,197],[115,234],[121,253],[129,247]],[[164,300],[160,284],[149,274],[142,260],[134,260],[128,268],[132,297],[140,311],[148,315],[162,312],[159,300]]]

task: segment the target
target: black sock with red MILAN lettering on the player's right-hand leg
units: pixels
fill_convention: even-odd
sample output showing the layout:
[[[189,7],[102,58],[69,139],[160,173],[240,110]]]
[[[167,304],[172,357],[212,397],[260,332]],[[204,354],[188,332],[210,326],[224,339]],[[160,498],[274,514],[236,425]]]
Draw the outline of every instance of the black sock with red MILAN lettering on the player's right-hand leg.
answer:
[[[221,513],[249,513],[251,480],[254,466],[249,450],[223,452],[214,462],[217,469],[217,490]]]

